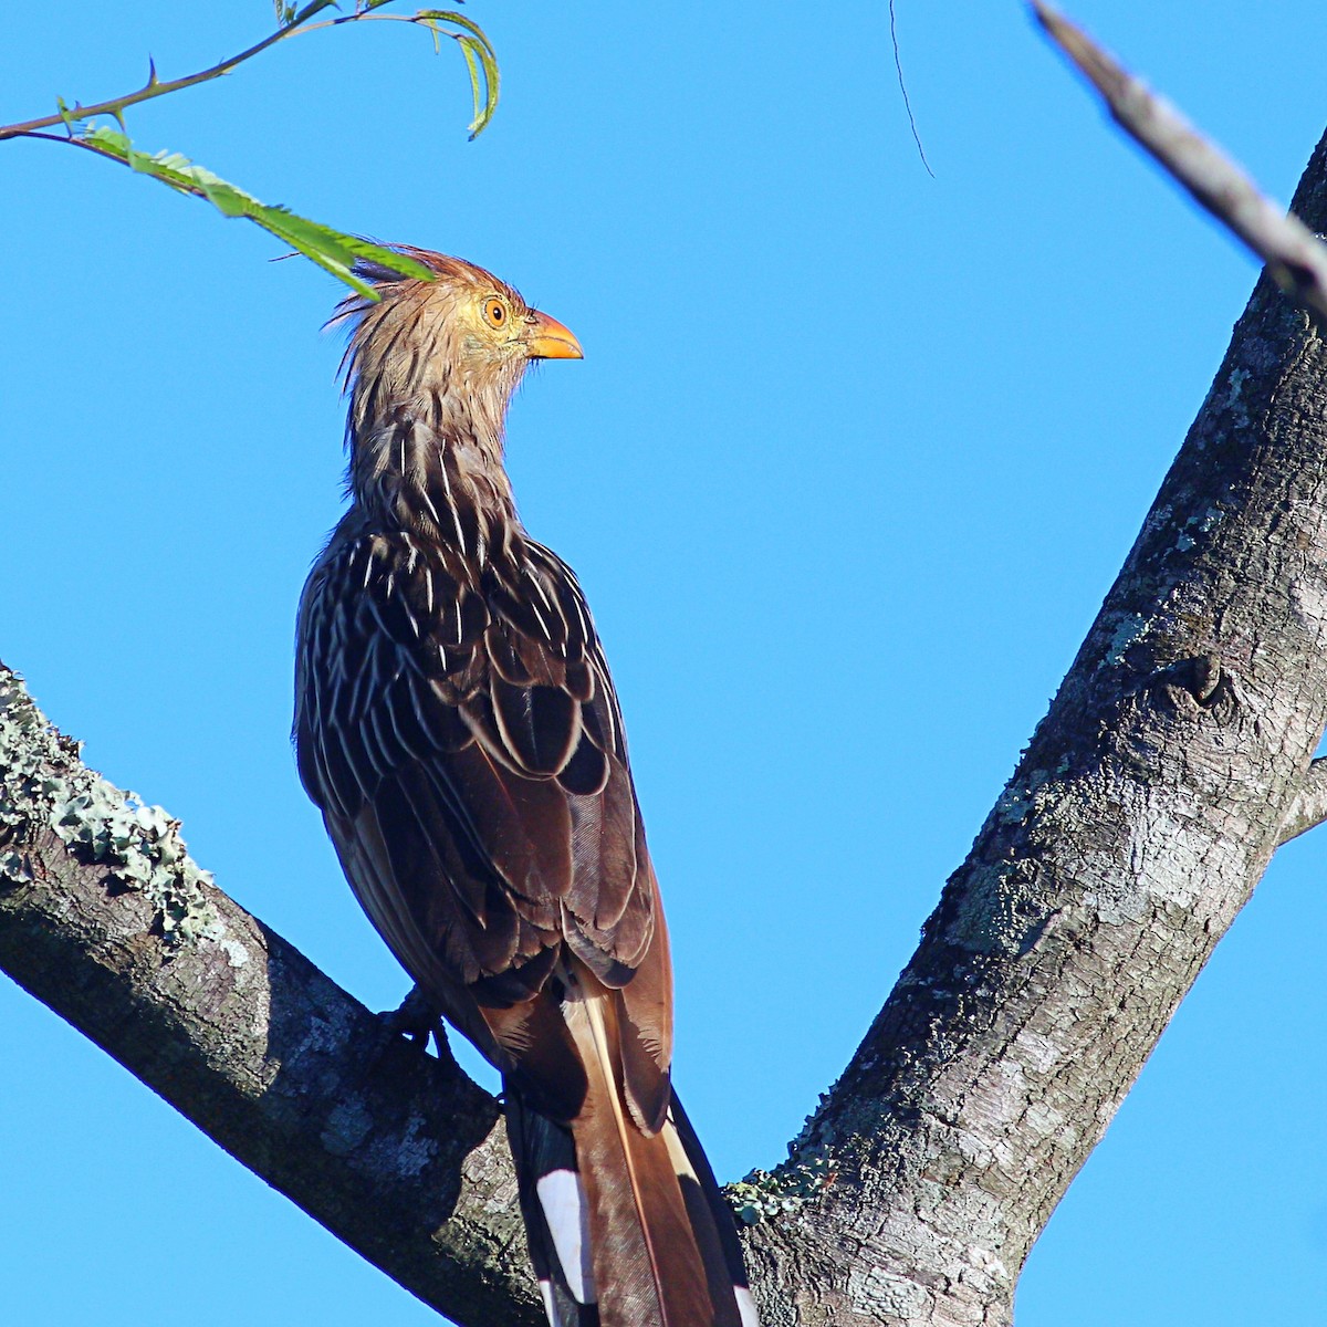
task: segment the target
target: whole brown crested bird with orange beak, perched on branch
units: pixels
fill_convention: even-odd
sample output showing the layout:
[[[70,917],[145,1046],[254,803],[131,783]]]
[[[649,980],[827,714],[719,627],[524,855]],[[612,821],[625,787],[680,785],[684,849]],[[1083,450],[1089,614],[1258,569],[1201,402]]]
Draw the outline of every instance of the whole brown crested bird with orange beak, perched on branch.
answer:
[[[349,507],[300,601],[293,740],[415,991],[498,1068],[551,1327],[759,1327],[671,1085],[667,929],[622,715],[571,568],[504,466],[556,318],[462,259],[356,272]],[[402,264],[406,265],[406,264]]]

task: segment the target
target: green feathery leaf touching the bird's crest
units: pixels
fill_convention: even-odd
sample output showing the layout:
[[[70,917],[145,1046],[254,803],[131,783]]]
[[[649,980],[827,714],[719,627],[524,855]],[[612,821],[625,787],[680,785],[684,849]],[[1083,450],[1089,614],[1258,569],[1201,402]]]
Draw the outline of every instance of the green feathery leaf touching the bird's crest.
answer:
[[[285,207],[260,203],[252,194],[245,194],[236,184],[214,175],[203,166],[196,166],[179,153],[163,151],[149,157],[147,153],[134,147],[127,134],[106,125],[94,125],[76,137],[78,142],[129,166],[130,170],[151,175],[153,179],[159,179],[182,194],[206,198],[223,216],[243,216],[261,226],[312,263],[317,263],[325,272],[330,272],[338,281],[344,281],[350,289],[370,300],[378,297],[377,292],[354,275],[356,259],[368,259],[421,281],[433,280],[433,272],[414,259],[381,244],[370,244],[356,235],[333,230],[321,222],[297,216]]]

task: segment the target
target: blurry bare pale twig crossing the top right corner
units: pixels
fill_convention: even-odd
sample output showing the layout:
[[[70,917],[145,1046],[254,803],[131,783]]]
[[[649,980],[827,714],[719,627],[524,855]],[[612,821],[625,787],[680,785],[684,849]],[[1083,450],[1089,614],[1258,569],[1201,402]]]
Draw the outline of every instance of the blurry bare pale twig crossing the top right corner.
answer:
[[[1101,94],[1116,123],[1217,220],[1234,231],[1267,264],[1277,284],[1298,300],[1322,329],[1327,324],[1327,245],[1320,244],[1296,216],[1286,215],[1262,195],[1229,157],[1082,28],[1042,0],[1031,3],[1042,28]]]

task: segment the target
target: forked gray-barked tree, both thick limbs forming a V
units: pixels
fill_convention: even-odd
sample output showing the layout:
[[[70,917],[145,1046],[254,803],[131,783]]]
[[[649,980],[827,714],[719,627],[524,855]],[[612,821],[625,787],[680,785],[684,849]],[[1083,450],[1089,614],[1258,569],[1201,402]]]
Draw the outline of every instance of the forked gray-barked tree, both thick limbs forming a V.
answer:
[[[1295,208],[1327,227],[1327,139]],[[1324,369],[1261,281],[917,954],[790,1161],[738,1186],[768,1323],[1007,1323],[1178,1002],[1320,816]],[[0,683],[0,965],[427,1303],[535,1322],[496,1104],[199,880]]]

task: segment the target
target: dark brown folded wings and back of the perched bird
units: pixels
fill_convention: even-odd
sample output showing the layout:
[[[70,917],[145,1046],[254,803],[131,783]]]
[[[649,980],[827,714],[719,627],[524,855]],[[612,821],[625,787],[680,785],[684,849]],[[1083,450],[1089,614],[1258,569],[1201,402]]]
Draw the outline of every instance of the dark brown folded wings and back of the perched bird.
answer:
[[[300,774],[374,925],[499,1067],[575,1089],[565,1028],[532,1026],[564,942],[620,993],[652,1127],[667,942],[617,698],[572,572],[518,553],[476,575],[406,535],[333,539],[301,605]]]

